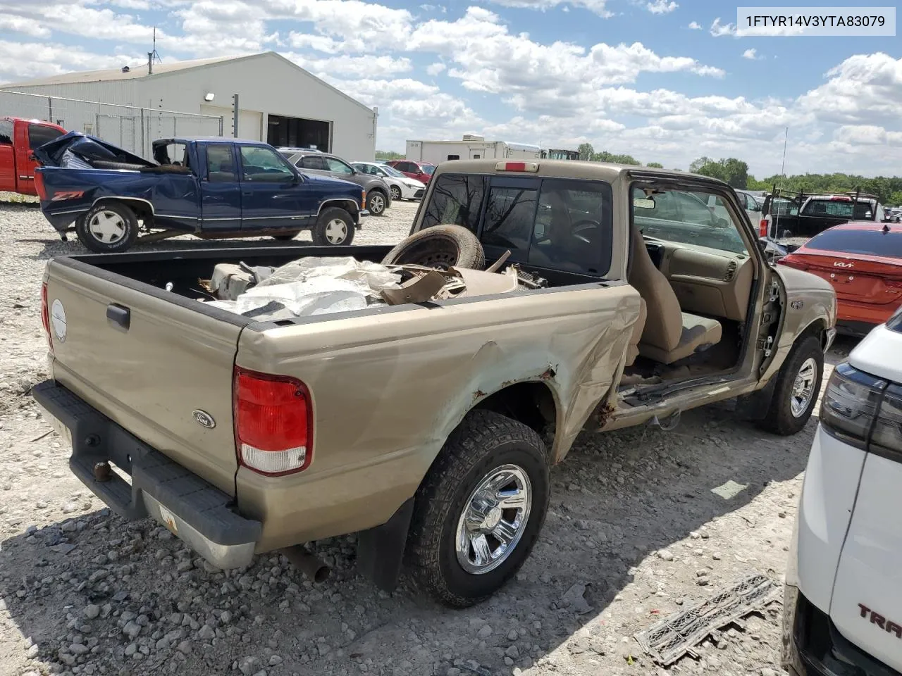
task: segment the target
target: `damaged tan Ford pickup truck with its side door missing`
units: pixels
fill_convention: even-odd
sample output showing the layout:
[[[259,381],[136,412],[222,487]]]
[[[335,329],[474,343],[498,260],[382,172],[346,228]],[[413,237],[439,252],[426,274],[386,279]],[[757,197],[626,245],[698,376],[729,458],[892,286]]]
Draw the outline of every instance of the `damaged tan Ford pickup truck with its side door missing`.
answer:
[[[581,430],[669,427],[730,397],[775,434],[811,416],[833,289],[769,263],[726,184],[449,161],[411,235],[443,224],[474,233],[489,262],[510,251],[547,286],[256,321],[198,302],[198,279],[217,263],[334,250],[51,260],[52,378],[33,397],[71,441],[71,469],[120,515],[152,516],[221,568],[357,533],[376,584],[392,589],[406,562],[463,607],[529,555],[549,468]],[[380,261],[390,249],[341,253]]]

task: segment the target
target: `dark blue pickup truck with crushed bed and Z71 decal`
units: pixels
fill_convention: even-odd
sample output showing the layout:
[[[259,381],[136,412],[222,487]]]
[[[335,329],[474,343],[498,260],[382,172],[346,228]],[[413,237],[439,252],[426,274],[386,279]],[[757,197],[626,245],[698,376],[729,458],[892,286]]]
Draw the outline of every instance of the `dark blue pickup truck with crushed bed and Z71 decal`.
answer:
[[[202,239],[311,230],[320,246],[350,244],[365,211],[354,183],[300,173],[272,146],[226,138],[172,138],[144,160],[69,132],[35,150],[41,211],[65,240],[98,253],[180,234]]]

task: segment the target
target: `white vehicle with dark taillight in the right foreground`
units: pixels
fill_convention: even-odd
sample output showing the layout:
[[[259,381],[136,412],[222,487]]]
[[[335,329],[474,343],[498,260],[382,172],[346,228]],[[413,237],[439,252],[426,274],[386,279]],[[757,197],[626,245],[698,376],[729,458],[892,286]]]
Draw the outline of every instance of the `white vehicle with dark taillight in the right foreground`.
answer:
[[[792,676],[902,671],[900,514],[902,309],[833,370],[824,392],[787,566],[783,664]]]

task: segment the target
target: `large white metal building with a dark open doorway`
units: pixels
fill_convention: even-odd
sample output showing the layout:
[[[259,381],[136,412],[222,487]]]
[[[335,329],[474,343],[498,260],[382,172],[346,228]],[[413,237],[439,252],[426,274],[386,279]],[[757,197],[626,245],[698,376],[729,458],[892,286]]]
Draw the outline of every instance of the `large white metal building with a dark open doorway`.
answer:
[[[11,91],[41,98],[15,96]],[[223,135],[232,136],[235,94],[240,138],[276,146],[313,146],[348,160],[372,159],[375,155],[376,109],[368,108],[274,51],[76,72],[3,85],[0,103],[3,114],[49,119],[66,129],[93,133],[110,142],[120,141],[116,138],[118,125],[124,147],[132,145],[140,151],[149,147],[153,138],[216,135],[218,117],[223,118]],[[110,106],[101,111],[102,106],[98,105],[63,100],[54,103],[53,97]],[[17,111],[17,106],[23,110]],[[135,123],[138,111],[141,122]],[[162,111],[167,114],[155,114]],[[179,131],[179,114],[185,119],[194,115],[194,124],[181,123],[184,131]],[[134,131],[125,128],[128,120]],[[138,132],[150,138],[138,142]],[[126,143],[129,138],[132,142]]]

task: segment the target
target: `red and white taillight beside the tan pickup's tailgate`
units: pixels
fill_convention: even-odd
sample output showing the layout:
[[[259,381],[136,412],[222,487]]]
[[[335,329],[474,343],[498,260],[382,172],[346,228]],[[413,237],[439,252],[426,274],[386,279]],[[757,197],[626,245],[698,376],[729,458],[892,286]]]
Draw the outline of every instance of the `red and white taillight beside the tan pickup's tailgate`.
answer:
[[[313,409],[299,379],[235,367],[238,461],[266,476],[306,470],[313,460]]]

